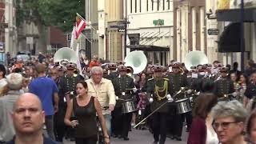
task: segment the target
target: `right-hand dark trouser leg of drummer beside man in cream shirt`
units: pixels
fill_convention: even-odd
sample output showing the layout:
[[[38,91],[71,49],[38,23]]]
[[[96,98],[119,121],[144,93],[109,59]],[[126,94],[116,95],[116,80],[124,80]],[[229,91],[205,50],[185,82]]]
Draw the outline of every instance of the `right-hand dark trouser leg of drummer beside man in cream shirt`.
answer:
[[[133,113],[122,114],[122,137],[128,137]]]

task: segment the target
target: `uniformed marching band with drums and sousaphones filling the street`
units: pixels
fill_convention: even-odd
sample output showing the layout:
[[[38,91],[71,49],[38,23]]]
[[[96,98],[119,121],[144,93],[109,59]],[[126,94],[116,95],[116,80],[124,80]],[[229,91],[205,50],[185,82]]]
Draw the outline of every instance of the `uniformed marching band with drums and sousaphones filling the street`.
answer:
[[[55,137],[59,141],[65,134],[63,118],[66,104],[76,97],[77,83],[90,78],[90,75],[79,73],[74,58],[69,59],[68,53],[64,50],[55,54],[55,65],[50,68],[53,70],[49,74],[54,78],[54,74],[58,73],[54,81],[59,89],[60,111],[54,122]],[[221,63],[194,62],[190,67],[182,66],[180,62],[171,62],[169,66],[140,66],[145,60],[139,57],[131,53],[125,62],[102,64],[102,77],[110,80],[114,86],[116,104],[111,111],[111,136],[114,138],[129,140],[134,115],[137,118],[134,128],[142,125],[143,130],[148,128],[154,135],[154,144],[164,144],[166,137],[182,141],[183,123],[186,122],[189,131],[193,119],[191,111],[198,94],[211,92],[218,96],[219,101],[239,98],[235,90],[237,84],[231,81],[228,69]],[[132,59],[138,61],[133,63]],[[97,62],[94,64],[100,66]],[[142,74],[143,82],[140,80]],[[102,106],[102,110],[105,108]],[[67,131],[66,137],[73,140],[72,128]]]

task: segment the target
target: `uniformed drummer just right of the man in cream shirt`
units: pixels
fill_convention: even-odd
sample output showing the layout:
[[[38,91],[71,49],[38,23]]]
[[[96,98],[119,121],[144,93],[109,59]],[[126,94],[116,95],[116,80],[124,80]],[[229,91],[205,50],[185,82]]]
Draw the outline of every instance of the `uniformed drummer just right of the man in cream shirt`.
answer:
[[[128,141],[128,132],[130,130],[130,122],[132,118],[132,112],[130,113],[123,113],[122,112],[122,102],[126,100],[132,100],[133,96],[133,88],[134,88],[134,79],[130,78],[127,75],[127,67],[126,66],[119,66],[119,77],[114,78],[113,86],[115,95],[117,96],[117,104],[113,114],[113,123],[114,123],[114,130],[115,134],[118,134],[118,138],[123,138],[124,140]],[[120,114],[121,113],[121,114]],[[122,114],[123,113],[123,114]]]

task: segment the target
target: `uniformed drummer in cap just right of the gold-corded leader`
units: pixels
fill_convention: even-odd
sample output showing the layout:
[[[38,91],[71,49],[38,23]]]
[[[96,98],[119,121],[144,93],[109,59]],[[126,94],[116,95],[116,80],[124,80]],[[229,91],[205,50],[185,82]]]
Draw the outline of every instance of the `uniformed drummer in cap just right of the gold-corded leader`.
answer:
[[[174,93],[180,90],[182,87],[188,86],[186,75],[180,74],[181,64],[179,62],[172,63],[172,71],[173,73],[168,75],[170,82],[173,83]],[[178,94],[176,98],[183,98],[183,94]],[[172,139],[176,139],[177,141],[182,141],[182,114],[177,113],[177,103],[172,103],[170,105],[171,114],[173,114],[173,122],[170,127],[170,134],[173,135]],[[173,127],[172,127],[173,126]]]

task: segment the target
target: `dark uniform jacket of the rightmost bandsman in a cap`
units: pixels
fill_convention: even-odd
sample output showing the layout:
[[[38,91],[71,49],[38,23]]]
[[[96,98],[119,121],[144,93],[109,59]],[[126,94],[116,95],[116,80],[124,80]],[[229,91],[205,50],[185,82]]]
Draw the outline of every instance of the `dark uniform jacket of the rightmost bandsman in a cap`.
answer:
[[[224,94],[234,93],[234,84],[230,78],[220,78],[214,82],[214,94],[222,98]]]

